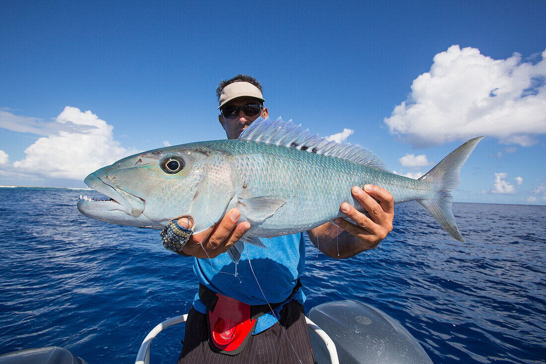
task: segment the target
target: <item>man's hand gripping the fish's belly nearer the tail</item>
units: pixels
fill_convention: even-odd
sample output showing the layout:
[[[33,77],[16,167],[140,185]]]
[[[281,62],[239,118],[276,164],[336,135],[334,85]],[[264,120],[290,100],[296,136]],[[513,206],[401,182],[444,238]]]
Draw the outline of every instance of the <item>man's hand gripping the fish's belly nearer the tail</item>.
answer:
[[[393,195],[389,191],[373,185],[365,185],[364,190],[354,186],[351,193],[370,214],[370,217],[368,218],[344,202],[341,204],[341,212],[356,224],[341,218],[334,222],[349,234],[357,237],[363,250],[373,249],[393,230]]]

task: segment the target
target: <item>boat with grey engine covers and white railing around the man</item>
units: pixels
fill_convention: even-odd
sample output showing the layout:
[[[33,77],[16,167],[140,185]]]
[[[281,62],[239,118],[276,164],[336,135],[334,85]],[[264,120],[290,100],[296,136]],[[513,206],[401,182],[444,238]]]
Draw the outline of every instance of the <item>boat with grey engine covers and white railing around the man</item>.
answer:
[[[165,320],[144,338],[135,364],[149,364],[152,340],[159,332],[187,319]],[[333,301],[313,307],[306,316],[317,364],[432,363],[416,338],[400,322],[369,304]],[[87,364],[59,347],[18,350],[0,355],[0,364]]]

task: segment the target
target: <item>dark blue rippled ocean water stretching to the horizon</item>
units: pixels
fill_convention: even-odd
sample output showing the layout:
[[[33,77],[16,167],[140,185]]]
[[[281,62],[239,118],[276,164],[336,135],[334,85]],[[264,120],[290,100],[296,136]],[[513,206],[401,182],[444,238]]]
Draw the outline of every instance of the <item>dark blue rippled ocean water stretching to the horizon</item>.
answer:
[[[192,260],[163,249],[158,231],[86,218],[79,193],[0,188],[0,354],[58,345],[90,363],[130,363],[153,326],[191,307]],[[435,363],[545,363],[546,206],[453,210],[466,243],[417,203],[396,206],[389,237],[352,259],[307,242],[306,310],[371,304]],[[151,362],[175,362],[182,337],[183,325],[159,334]]]

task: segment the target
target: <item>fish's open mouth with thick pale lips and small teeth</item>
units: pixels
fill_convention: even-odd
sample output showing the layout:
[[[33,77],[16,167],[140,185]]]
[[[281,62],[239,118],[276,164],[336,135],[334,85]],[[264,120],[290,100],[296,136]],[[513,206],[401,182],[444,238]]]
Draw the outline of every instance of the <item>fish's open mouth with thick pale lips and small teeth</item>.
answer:
[[[84,205],[87,205],[88,208],[96,211],[119,210],[135,218],[144,212],[145,200],[143,198],[124,191],[119,187],[116,188],[109,185],[95,173],[88,175],[84,179],[84,183],[93,190],[110,197],[110,199],[96,199],[87,196],[80,196],[78,206],[84,207]]]

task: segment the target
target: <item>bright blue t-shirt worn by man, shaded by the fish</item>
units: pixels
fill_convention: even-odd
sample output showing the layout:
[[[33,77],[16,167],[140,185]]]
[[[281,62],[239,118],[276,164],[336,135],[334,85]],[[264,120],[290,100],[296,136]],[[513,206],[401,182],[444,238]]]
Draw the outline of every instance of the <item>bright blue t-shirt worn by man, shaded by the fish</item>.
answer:
[[[305,301],[301,288],[289,297],[305,269],[303,233],[260,240],[268,249],[245,244],[237,267],[227,254],[220,254],[214,259],[195,258],[193,264],[193,271],[200,283],[211,291],[252,306],[282,302],[274,310],[275,314],[267,313],[258,318],[254,334],[275,325],[282,307],[292,298],[301,304]],[[206,313],[199,293],[195,295],[193,307],[200,313]]]

